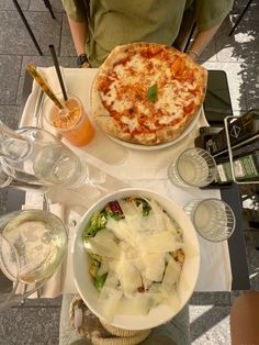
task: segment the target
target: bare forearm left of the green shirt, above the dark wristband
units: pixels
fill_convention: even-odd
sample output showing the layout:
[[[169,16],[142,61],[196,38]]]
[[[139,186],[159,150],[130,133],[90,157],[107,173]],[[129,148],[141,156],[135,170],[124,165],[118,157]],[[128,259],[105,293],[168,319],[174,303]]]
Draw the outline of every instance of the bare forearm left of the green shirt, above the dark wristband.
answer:
[[[86,54],[85,44],[87,41],[87,21],[83,22],[76,22],[71,18],[68,18],[68,23],[70,26],[72,41],[76,47],[77,55]]]

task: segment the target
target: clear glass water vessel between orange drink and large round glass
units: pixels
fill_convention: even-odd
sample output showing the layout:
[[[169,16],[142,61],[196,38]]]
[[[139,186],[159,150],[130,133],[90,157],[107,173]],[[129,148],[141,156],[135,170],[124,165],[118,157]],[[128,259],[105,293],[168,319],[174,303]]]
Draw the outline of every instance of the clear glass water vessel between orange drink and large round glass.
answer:
[[[35,127],[16,131],[21,138],[3,136],[1,167],[16,181],[78,188],[87,178],[80,158],[52,133]]]

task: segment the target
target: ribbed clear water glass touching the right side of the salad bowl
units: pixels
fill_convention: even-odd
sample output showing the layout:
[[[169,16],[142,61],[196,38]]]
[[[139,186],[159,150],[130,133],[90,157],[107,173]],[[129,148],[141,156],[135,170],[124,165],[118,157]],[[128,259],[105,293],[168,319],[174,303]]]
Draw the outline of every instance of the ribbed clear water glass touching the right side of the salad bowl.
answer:
[[[236,226],[232,208],[219,199],[192,200],[183,210],[190,216],[198,233],[211,242],[227,240]]]

